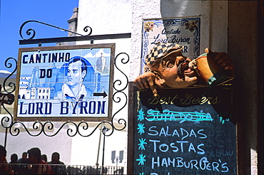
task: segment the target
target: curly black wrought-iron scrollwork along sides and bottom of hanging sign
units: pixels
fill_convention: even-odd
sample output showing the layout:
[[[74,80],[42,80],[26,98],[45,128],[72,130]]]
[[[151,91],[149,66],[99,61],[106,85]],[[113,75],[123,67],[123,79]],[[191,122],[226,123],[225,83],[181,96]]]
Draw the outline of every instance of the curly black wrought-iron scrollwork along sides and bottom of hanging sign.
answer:
[[[105,128],[105,126],[107,126],[107,129],[106,131],[103,131],[103,129],[101,129],[101,132],[105,135],[105,136],[110,136],[111,134],[113,134],[113,131],[116,129],[116,130],[123,130],[126,128],[126,120],[124,119],[119,119],[118,120],[118,124],[121,125],[121,129],[118,129],[113,120],[114,118],[116,117],[116,115],[118,115],[118,112],[120,112],[121,110],[123,110],[124,107],[126,107],[127,105],[127,101],[128,101],[128,97],[126,95],[125,92],[123,92],[127,86],[128,86],[128,78],[127,76],[125,75],[125,73],[123,73],[121,71],[121,69],[118,68],[118,66],[116,65],[116,62],[119,60],[119,58],[121,58],[121,56],[124,55],[126,56],[126,58],[122,58],[120,61],[121,61],[121,64],[126,64],[128,63],[129,61],[129,56],[127,53],[119,53],[118,55],[116,55],[116,58],[115,58],[115,62],[114,62],[114,65],[116,66],[116,68],[125,76],[126,78],[126,81],[123,82],[122,80],[116,80],[114,83],[113,83],[113,88],[114,90],[116,90],[116,92],[113,93],[113,102],[121,102],[121,97],[118,96],[118,95],[123,95],[125,97],[125,102],[124,102],[124,105],[113,115],[113,117],[111,118],[111,121],[108,122],[108,121],[103,121],[103,122],[100,122],[96,125],[96,127],[93,128],[93,130],[88,133],[88,134],[83,134],[83,131],[87,131],[89,129],[89,124],[88,122],[71,122],[71,121],[68,121],[68,122],[64,122],[63,124],[61,124],[61,126],[59,127],[59,129],[57,129],[57,131],[54,133],[54,122],[51,122],[51,121],[47,121],[47,122],[39,122],[39,121],[36,121],[32,124],[32,129],[37,132],[35,134],[32,134],[32,132],[30,132],[30,130],[26,127],[26,125],[23,123],[23,122],[19,122],[19,121],[14,121],[14,117],[13,115],[11,114],[11,112],[9,112],[6,107],[4,107],[4,97],[9,97],[9,95],[11,95],[12,92],[14,92],[16,90],[16,84],[15,83],[9,83],[9,87],[11,88],[11,90],[6,90],[6,80],[8,78],[11,77],[11,75],[13,75],[15,72],[16,72],[16,69],[17,69],[17,61],[16,59],[14,58],[8,58],[6,60],[6,68],[11,68],[13,66],[13,64],[9,63],[8,62],[13,59],[15,61],[15,68],[14,68],[14,71],[4,80],[4,94],[3,94],[3,98],[1,99],[1,105],[2,107],[4,107],[4,110],[6,110],[6,112],[9,114],[9,117],[3,117],[1,119],[1,126],[4,127],[4,128],[7,128],[9,129],[9,133],[12,135],[12,136],[17,136],[20,134],[21,132],[21,128],[17,127],[18,125],[20,125],[22,128],[25,129],[25,131],[32,137],[37,137],[39,135],[41,135],[42,133],[44,135],[46,135],[47,137],[54,137],[56,136],[56,134],[58,134],[61,129],[63,129],[67,124],[71,124],[71,128],[68,128],[66,130],[66,133],[69,137],[74,137],[76,136],[76,134],[80,134],[82,137],[89,137],[91,136],[95,131],[96,129],[98,129],[99,127],[103,127]],[[123,85],[124,84],[124,85]],[[123,85],[123,88],[121,87],[121,85]],[[121,87],[121,88],[120,88]],[[14,101],[14,99],[13,99]],[[52,132],[53,134],[49,134],[49,132]]]

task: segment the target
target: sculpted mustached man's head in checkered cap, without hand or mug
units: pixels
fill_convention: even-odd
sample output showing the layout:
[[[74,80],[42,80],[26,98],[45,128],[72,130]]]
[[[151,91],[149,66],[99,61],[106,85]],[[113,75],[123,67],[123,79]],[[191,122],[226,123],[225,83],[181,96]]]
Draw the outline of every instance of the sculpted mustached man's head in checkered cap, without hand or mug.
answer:
[[[156,85],[186,88],[197,82],[191,61],[182,55],[183,46],[174,43],[157,43],[146,56],[146,66],[156,75]]]

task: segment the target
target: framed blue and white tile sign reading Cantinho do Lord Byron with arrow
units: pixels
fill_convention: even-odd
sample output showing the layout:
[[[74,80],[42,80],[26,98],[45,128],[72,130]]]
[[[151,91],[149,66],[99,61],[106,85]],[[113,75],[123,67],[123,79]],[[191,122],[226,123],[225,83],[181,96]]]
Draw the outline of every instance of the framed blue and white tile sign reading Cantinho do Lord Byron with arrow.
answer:
[[[15,117],[110,118],[114,49],[113,43],[20,48]]]

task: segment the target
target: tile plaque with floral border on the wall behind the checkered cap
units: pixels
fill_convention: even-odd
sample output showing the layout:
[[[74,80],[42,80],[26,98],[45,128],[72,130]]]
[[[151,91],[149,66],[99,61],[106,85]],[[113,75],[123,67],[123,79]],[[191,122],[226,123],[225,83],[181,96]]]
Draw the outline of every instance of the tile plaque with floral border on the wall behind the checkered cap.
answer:
[[[200,18],[146,19],[142,33],[142,68],[148,51],[158,42],[183,45],[183,55],[191,59],[200,55]]]

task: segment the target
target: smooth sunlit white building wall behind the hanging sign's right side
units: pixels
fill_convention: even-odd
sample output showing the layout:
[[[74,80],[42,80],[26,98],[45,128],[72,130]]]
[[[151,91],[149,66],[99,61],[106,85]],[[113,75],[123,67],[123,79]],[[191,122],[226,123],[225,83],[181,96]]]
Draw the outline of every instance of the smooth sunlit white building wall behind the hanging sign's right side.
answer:
[[[101,1],[87,1],[79,0],[78,9],[78,28],[77,33],[85,34],[83,28],[85,26],[90,26],[93,29],[93,35],[105,35],[105,34],[116,34],[116,33],[131,33],[132,23],[131,23],[131,0],[101,0]],[[90,44],[90,41],[79,41],[77,44]],[[118,53],[127,53],[131,56],[131,38],[121,38],[121,39],[111,39],[111,40],[99,40],[93,41],[94,44],[98,43],[116,43],[116,55]],[[127,76],[129,74],[129,62],[127,64],[122,64],[121,59],[126,58],[125,55],[118,57],[117,65],[118,68],[123,71]],[[130,57],[131,59],[131,57]],[[118,89],[124,88],[126,85],[126,76],[120,73],[117,69],[114,70],[114,81],[121,80],[122,84],[116,86]],[[128,94],[128,89],[126,89],[126,95]],[[113,102],[113,114],[115,114],[121,106],[123,106],[126,98],[122,95],[121,102]],[[121,112],[115,116],[115,122],[118,119],[124,119],[127,121],[127,111],[126,106]],[[79,164],[86,162],[86,164],[96,165],[96,159],[98,154],[98,139],[100,132],[97,129],[90,137],[74,137],[73,147],[72,147],[72,164]],[[104,165],[106,166],[116,166],[116,163],[111,161],[111,152],[116,151],[116,156],[118,156],[119,151],[126,150],[126,138],[127,132],[125,131],[114,131],[110,137],[106,137],[105,142],[105,156]],[[101,148],[99,152],[98,164],[102,165],[102,152],[103,152],[103,135],[101,136]],[[78,154],[78,157],[74,155]],[[126,154],[126,153],[125,153]],[[124,158],[126,155],[124,155]],[[125,166],[126,159],[118,166]]]

